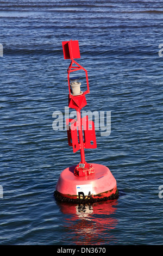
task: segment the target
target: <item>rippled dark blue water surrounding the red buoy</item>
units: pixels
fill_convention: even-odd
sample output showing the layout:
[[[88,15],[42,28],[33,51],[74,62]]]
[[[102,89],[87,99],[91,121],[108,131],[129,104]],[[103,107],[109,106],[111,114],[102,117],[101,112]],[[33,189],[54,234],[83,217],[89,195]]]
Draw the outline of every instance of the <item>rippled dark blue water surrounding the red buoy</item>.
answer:
[[[0,5],[1,245],[162,245],[163,1]],[[109,167],[120,191],[85,207],[53,197],[80,161],[52,128],[68,106],[61,42],[71,39],[89,76],[84,110],[111,111],[111,134],[96,132],[86,161]]]

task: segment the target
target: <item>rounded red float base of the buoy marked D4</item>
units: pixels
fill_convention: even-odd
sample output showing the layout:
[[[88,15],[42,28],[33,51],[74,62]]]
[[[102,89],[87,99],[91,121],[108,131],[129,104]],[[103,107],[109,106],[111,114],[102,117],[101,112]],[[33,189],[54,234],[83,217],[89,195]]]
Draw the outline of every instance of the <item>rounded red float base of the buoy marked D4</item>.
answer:
[[[108,167],[91,163],[95,173],[76,176],[76,166],[66,168],[60,174],[54,196],[61,202],[93,203],[118,198],[117,184]]]

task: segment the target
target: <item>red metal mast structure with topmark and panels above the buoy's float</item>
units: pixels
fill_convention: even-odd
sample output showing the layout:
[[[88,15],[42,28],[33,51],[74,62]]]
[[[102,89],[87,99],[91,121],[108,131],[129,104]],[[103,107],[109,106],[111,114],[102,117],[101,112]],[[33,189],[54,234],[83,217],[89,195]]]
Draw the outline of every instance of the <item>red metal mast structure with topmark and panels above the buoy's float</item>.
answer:
[[[79,44],[78,41],[64,41],[62,42],[62,47],[64,51],[64,58],[71,59],[71,63],[67,69],[67,79],[68,79],[68,89],[69,89],[69,107],[76,109],[77,120],[67,119],[67,137],[68,145],[73,147],[73,152],[75,153],[80,149],[81,162],[74,169],[74,174],[77,176],[88,176],[95,173],[95,169],[91,164],[85,161],[84,148],[96,148],[96,133],[95,125],[93,121],[88,120],[88,116],[81,118],[80,110],[87,104],[85,95],[90,93],[89,80],[87,76],[87,70],[83,68],[80,64],[74,60],[74,58],[80,58]],[[73,64],[76,64],[74,66]],[[70,73],[74,71],[84,70],[86,75],[87,90],[82,95],[73,96],[71,94],[70,87]],[[89,129],[91,125],[91,129]],[[84,138],[82,126],[84,127]],[[78,139],[79,137],[79,139]]]

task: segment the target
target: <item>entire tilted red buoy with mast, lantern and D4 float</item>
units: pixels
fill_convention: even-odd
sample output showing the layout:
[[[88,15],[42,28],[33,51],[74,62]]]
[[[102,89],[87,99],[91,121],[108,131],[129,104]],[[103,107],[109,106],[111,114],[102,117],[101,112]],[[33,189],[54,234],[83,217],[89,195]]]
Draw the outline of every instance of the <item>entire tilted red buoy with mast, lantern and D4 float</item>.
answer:
[[[85,161],[84,149],[95,149],[95,124],[88,116],[81,118],[80,110],[86,106],[85,95],[90,93],[87,70],[74,60],[80,58],[79,43],[63,41],[64,59],[71,59],[67,69],[68,75],[68,107],[76,109],[76,119],[66,119],[68,145],[76,153],[80,150],[81,161],[76,166],[67,167],[59,176],[54,196],[61,202],[87,203],[118,198],[117,184],[109,168],[97,163]],[[87,89],[81,91],[82,83],[79,77],[70,78],[70,73],[84,70]]]

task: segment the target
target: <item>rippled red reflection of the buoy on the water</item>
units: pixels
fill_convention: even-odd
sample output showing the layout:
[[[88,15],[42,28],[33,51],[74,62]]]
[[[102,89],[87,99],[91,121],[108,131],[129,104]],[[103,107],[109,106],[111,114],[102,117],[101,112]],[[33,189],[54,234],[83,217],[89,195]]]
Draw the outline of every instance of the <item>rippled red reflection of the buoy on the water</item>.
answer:
[[[116,205],[117,200],[86,205],[60,204],[61,212],[68,215],[66,229],[71,231],[72,242],[76,245],[106,245],[115,241],[116,237],[110,231],[118,222],[113,216]]]

